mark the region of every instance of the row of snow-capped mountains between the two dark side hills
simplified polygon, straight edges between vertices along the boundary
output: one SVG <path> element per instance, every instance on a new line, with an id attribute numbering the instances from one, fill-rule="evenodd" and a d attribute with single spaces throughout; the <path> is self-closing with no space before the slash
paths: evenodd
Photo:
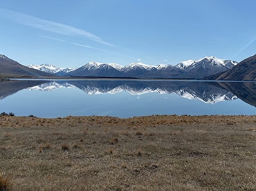
<path id="1" fill-rule="evenodd" d="M 68 77 L 132 77 L 132 78 L 196 78 L 207 77 L 211 74 L 224 72 L 236 66 L 236 61 L 222 60 L 217 57 L 204 57 L 199 60 L 183 61 L 176 66 L 159 64 L 149 66 L 141 62 L 133 62 L 127 66 L 118 63 L 89 62 L 80 68 L 57 68 L 52 65 L 35 66 L 30 68 Z"/>

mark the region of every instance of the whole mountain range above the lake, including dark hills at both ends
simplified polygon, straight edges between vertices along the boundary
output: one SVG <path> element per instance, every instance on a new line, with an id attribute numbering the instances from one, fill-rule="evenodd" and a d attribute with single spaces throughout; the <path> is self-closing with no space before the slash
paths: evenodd
<path id="1" fill-rule="evenodd" d="M 232 60 L 204 57 L 188 60 L 176 66 L 159 64 L 149 66 L 134 62 L 127 66 L 118 63 L 89 62 L 80 68 L 58 68 L 53 65 L 23 66 L 0 54 L 0 77 L 114 77 L 138 79 L 210 79 L 231 81 L 256 80 L 256 55 L 240 63 Z"/>

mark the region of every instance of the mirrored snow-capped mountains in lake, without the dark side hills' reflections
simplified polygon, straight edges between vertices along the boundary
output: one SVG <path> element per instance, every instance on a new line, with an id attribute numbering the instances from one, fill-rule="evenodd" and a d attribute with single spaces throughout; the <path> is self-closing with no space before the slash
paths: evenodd
<path id="1" fill-rule="evenodd" d="M 124 91 L 133 95 L 176 93 L 180 97 L 211 104 L 237 99 L 229 90 L 216 85 L 198 81 L 49 81 L 28 89 L 51 91 L 57 88 L 79 88 L 87 94 L 117 94 Z"/>

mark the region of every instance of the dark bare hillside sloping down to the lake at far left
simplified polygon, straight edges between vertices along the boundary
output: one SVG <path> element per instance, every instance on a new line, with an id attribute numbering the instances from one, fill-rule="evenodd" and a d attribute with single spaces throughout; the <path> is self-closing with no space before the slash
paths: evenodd
<path id="1" fill-rule="evenodd" d="M 52 74 L 28 68 L 0 54 L 0 77 L 52 77 Z"/>

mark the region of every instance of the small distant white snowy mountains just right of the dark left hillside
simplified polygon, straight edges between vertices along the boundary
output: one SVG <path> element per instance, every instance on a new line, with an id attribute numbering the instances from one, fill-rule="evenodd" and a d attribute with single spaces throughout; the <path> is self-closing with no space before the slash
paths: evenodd
<path id="1" fill-rule="evenodd" d="M 31 64 L 28 67 L 34 68 L 36 70 L 40 70 L 43 72 L 47 72 L 49 74 L 55 74 L 57 76 L 65 76 L 68 72 L 71 72 L 74 70 L 74 68 L 60 68 L 50 64 L 41 64 L 41 65 Z"/>

